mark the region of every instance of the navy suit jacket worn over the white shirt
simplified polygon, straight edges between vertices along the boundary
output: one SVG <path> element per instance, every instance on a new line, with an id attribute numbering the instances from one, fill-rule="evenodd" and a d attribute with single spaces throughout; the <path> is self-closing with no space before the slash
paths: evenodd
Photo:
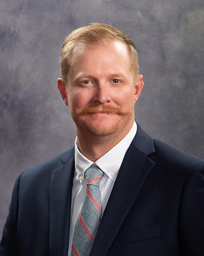
<path id="1" fill-rule="evenodd" d="M 21 173 L 1 256 L 67 256 L 74 148 Z M 204 161 L 138 125 L 91 256 L 203 256 Z"/>

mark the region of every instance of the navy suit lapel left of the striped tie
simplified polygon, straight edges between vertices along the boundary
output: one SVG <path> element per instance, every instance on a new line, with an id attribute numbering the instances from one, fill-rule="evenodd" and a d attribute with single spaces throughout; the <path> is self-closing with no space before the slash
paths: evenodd
<path id="1" fill-rule="evenodd" d="M 73 174 L 74 157 L 52 173 L 50 184 L 50 256 L 67 256 Z"/>

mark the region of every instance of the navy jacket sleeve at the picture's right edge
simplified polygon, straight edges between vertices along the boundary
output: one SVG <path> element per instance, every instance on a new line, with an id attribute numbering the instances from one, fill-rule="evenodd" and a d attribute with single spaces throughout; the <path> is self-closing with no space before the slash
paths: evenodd
<path id="1" fill-rule="evenodd" d="M 182 256 L 204 255 L 204 162 L 191 170 L 183 188 L 179 238 Z"/>

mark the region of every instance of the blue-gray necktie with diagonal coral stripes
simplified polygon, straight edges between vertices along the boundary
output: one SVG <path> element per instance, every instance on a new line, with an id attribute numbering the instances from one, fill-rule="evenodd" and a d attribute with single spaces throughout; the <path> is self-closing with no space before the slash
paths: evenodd
<path id="1" fill-rule="evenodd" d="M 85 172 L 86 194 L 74 226 L 71 256 L 88 256 L 100 223 L 101 199 L 99 183 L 104 172 L 91 165 Z"/>

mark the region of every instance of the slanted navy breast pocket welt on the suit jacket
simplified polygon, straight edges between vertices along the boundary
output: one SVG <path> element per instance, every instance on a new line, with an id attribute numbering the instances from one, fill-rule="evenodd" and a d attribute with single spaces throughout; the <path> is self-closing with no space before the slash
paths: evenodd
<path id="1" fill-rule="evenodd" d="M 154 226 L 141 227 L 141 228 L 132 229 L 132 230 L 120 231 L 113 242 L 113 246 L 133 243 L 133 242 L 152 239 L 152 238 L 159 238 L 160 234 L 161 234 L 161 225 L 154 225 Z"/>

